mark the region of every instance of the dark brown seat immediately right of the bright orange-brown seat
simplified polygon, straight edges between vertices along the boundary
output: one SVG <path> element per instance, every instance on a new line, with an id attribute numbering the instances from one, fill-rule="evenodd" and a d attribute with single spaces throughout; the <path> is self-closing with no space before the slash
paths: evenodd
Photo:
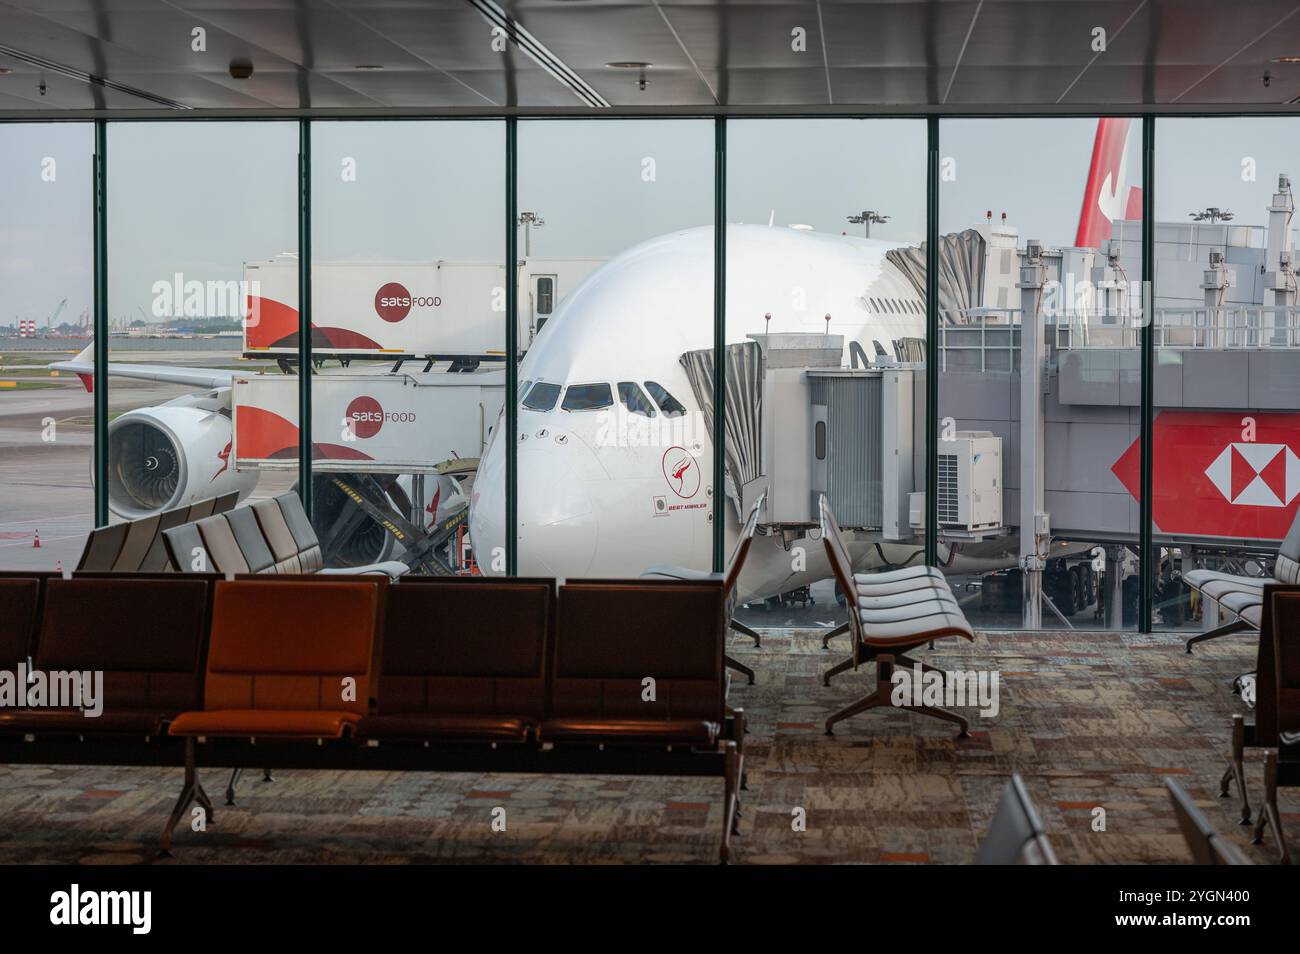
<path id="1" fill-rule="evenodd" d="M 554 580 L 426 577 L 385 595 L 367 743 L 523 743 L 545 712 Z"/>

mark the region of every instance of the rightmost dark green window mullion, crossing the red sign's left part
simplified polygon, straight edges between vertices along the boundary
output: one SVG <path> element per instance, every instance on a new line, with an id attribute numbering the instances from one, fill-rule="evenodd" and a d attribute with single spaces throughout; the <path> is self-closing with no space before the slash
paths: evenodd
<path id="1" fill-rule="evenodd" d="M 1156 552 L 1152 542 L 1152 432 L 1156 416 L 1156 117 L 1141 120 L 1141 499 L 1138 503 L 1139 607 L 1138 630 L 1152 630 L 1152 603 L 1156 589 Z"/>

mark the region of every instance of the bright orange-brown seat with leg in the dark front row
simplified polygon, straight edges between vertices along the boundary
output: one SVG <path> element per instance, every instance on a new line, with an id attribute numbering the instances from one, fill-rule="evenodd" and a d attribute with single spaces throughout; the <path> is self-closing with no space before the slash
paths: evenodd
<path id="1" fill-rule="evenodd" d="M 378 582 L 266 578 L 216 585 L 203 708 L 183 712 L 185 784 L 161 850 L 188 806 L 208 801 L 196 740 L 321 743 L 346 738 L 369 711 Z M 239 763 L 237 763 L 239 764 Z"/>

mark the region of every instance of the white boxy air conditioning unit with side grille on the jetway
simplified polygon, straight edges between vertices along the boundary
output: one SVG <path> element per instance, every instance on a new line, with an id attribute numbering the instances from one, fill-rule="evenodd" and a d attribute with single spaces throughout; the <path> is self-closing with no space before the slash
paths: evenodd
<path id="1" fill-rule="evenodd" d="M 939 529 L 984 533 L 1002 526 L 1002 438 L 959 430 L 939 442 Z"/>

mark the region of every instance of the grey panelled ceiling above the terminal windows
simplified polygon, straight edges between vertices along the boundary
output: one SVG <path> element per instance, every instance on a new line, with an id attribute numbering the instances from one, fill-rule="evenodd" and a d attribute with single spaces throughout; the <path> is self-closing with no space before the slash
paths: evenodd
<path id="1" fill-rule="evenodd" d="M 1295 0 L 495 0 L 541 44 L 536 58 L 494 48 L 476 8 L 491 3 L 0 0 L 0 47 L 18 51 L 0 49 L 12 70 L 0 110 L 160 108 L 151 97 L 222 110 L 582 109 L 572 77 L 615 108 L 668 110 L 1300 96 L 1300 65 L 1277 62 L 1300 55 Z M 191 49 L 196 26 L 205 52 Z M 252 61 L 252 78 L 229 75 L 235 57 Z M 607 66 L 618 61 L 653 64 L 645 87 Z"/>

